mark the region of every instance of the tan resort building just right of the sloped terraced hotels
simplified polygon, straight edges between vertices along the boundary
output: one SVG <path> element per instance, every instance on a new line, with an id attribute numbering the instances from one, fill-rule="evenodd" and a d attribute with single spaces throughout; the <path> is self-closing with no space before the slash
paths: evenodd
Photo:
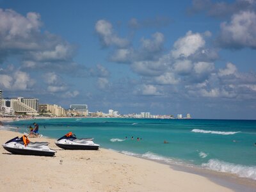
<path id="1" fill-rule="evenodd" d="M 67 111 L 56 104 L 40 104 L 39 113 L 49 116 L 67 116 Z"/>

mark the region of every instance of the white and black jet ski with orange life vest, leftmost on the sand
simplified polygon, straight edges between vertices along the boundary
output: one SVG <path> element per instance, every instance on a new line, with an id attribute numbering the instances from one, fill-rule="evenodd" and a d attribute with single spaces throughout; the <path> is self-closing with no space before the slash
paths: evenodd
<path id="1" fill-rule="evenodd" d="M 26 135 L 15 137 L 3 144 L 3 148 L 12 154 L 29 156 L 54 156 L 55 150 L 48 147 L 48 142 L 31 142 Z"/>

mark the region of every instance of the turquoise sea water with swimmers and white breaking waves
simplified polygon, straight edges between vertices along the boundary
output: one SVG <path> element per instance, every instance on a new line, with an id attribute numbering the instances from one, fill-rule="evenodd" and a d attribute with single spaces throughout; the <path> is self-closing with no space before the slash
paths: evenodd
<path id="1" fill-rule="evenodd" d="M 19 126 L 19 132 L 26 132 L 33 122 L 39 124 L 40 134 L 51 138 L 72 131 L 78 138 L 93 137 L 100 147 L 124 154 L 236 173 L 256 180 L 255 120 L 61 118 L 8 125 Z"/>

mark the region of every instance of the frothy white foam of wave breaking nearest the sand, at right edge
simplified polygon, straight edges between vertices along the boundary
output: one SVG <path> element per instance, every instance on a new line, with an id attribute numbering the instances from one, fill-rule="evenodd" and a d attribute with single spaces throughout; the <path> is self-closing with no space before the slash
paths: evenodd
<path id="1" fill-rule="evenodd" d="M 246 177 L 256 180 L 256 166 L 244 166 L 241 164 L 232 164 L 218 159 L 210 159 L 207 163 L 202 164 L 203 167 L 210 170 L 234 173 L 239 177 Z"/>

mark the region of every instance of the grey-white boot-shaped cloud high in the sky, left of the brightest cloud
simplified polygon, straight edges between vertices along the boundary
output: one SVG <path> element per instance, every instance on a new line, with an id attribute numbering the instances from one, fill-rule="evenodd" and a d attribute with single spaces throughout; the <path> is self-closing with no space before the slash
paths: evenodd
<path id="1" fill-rule="evenodd" d="M 129 45 L 127 39 L 116 35 L 112 24 L 108 20 L 98 20 L 95 24 L 95 30 L 104 46 L 116 45 L 117 47 L 126 47 Z"/>

